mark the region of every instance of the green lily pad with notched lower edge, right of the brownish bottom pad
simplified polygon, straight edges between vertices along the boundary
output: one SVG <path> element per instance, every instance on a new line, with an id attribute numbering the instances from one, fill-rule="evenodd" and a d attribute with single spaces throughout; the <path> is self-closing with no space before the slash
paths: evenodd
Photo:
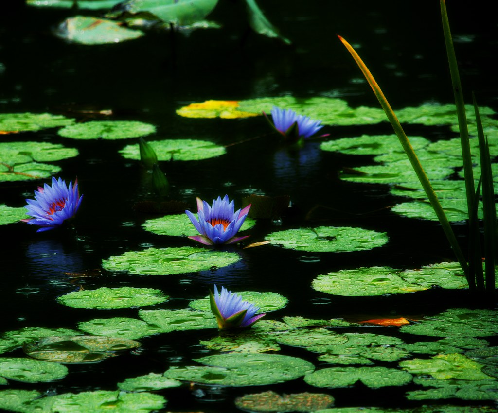
<path id="1" fill-rule="evenodd" d="M 405 371 L 386 367 L 331 367 L 317 370 L 304 377 L 304 381 L 315 387 L 349 387 L 361 381 L 371 389 L 386 386 L 404 386 L 412 376 Z"/>

